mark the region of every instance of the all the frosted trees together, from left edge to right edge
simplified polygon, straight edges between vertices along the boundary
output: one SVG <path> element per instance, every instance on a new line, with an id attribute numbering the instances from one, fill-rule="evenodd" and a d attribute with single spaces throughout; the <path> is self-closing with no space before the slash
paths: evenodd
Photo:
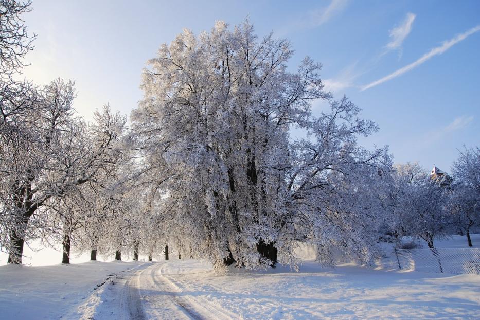
<path id="1" fill-rule="evenodd" d="M 217 268 L 295 268 L 298 242 L 315 244 L 324 264 L 339 251 L 368 263 L 382 235 L 433 246 L 448 228 L 468 235 L 478 221 L 478 149 L 460 154 L 454 183 L 394 167 L 387 147 L 358 145 L 378 126 L 324 90 L 321 65 L 305 58 L 289 72 L 290 43 L 259 40 L 248 21 L 233 30 L 218 22 L 199 37 L 185 30 L 163 45 L 126 128 L 108 106 L 90 123 L 76 116 L 71 82 L 14 80 L 31 49 L 20 20 L 30 4 L 0 3 L 0 245 L 9 262 L 41 238 L 63 243 L 64 263 L 71 247 L 95 260 L 168 257 L 173 246 Z M 329 110 L 312 114 L 314 99 Z"/>

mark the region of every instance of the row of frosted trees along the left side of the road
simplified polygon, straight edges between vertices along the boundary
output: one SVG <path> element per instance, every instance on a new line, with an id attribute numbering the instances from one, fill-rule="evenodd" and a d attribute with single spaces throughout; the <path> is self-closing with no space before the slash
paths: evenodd
<path id="1" fill-rule="evenodd" d="M 32 239 L 116 253 L 131 245 L 137 258 L 141 234 L 150 230 L 132 182 L 126 117 L 104 106 L 90 123 L 74 109 L 74 84 L 61 79 L 37 86 L 21 78 L 31 50 L 21 15 L 30 2 L 0 1 L 0 245 L 8 262 L 21 263 Z M 140 194 L 140 197 L 138 196 Z M 146 227 L 147 226 L 147 227 Z"/>

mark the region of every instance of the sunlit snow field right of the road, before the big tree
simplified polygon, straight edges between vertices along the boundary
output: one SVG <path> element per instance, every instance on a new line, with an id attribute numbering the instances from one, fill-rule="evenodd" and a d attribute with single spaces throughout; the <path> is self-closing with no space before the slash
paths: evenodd
<path id="1" fill-rule="evenodd" d="M 298 273 L 282 266 L 268 272 L 230 271 L 218 276 L 194 260 L 163 266 L 191 306 L 207 300 L 233 313 L 232 318 L 475 318 L 480 310 L 478 275 L 368 270 L 352 264 L 328 269 L 313 261 Z"/>

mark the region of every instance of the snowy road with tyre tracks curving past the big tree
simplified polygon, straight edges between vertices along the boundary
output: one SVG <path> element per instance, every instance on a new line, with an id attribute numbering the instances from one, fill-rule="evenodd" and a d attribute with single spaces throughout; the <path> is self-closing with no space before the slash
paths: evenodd
<path id="1" fill-rule="evenodd" d="M 192 263 L 193 262 L 193 263 Z M 179 265 L 182 268 L 179 268 Z M 204 270 L 198 271 L 198 265 Z M 206 266 L 206 268 L 205 268 Z M 202 274 L 211 271 L 203 262 L 164 261 L 149 263 L 115 277 L 86 303 L 82 319 L 232 319 L 237 316 L 212 304 L 191 286 L 180 284 L 172 276 L 188 276 L 189 269 Z M 190 270 L 191 271 L 191 270 Z M 179 273 L 180 272 L 180 273 Z"/>

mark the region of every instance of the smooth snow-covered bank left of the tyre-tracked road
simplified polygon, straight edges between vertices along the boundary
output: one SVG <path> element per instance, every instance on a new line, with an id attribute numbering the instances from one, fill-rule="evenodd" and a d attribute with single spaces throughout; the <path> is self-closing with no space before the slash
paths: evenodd
<path id="1" fill-rule="evenodd" d="M 141 262 L 92 261 L 70 265 L 0 266 L 0 318 L 58 319 L 107 278 Z"/>

